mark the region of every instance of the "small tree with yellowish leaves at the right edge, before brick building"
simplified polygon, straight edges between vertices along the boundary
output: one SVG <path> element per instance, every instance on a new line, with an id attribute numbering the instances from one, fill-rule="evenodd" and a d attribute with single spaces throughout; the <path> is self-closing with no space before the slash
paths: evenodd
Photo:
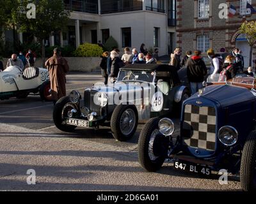
<path id="1" fill-rule="evenodd" d="M 256 43 L 256 21 L 251 22 L 244 22 L 240 29 L 241 34 L 246 35 L 246 39 L 248 40 L 248 43 L 250 45 L 250 62 L 249 65 L 252 66 L 252 51 L 253 51 L 253 45 Z"/>

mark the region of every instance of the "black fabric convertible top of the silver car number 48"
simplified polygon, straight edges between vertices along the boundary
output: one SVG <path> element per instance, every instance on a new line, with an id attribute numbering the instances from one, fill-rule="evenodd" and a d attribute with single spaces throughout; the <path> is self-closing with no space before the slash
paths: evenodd
<path id="1" fill-rule="evenodd" d="M 171 80 L 172 85 L 179 85 L 180 78 L 177 73 L 177 69 L 174 66 L 168 64 L 131 64 L 127 65 L 120 70 L 132 70 L 132 71 L 156 71 L 156 72 L 166 72 L 166 76 Z"/>

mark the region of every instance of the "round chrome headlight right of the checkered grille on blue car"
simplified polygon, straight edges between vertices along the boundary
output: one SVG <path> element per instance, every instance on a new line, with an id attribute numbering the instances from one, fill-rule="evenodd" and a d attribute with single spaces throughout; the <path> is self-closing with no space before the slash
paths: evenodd
<path id="1" fill-rule="evenodd" d="M 218 138 L 223 145 L 232 146 L 237 143 L 238 133 L 232 126 L 224 126 L 219 130 Z"/>

